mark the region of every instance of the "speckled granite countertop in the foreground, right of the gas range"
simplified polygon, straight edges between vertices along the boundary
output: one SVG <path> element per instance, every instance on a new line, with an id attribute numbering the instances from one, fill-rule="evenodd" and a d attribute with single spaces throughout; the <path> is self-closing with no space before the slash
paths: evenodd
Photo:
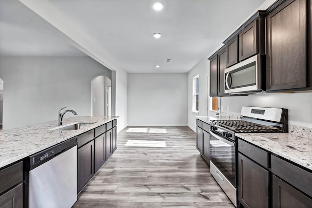
<path id="1" fill-rule="evenodd" d="M 267 151 L 312 170 L 312 139 L 291 133 L 235 133 Z"/>

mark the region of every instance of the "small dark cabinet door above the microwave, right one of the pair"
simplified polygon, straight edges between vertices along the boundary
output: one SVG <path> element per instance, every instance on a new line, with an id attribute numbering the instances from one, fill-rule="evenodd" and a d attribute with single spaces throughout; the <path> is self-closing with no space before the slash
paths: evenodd
<path id="1" fill-rule="evenodd" d="M 257 53 L 257 20 L 254 20 L 238 34 L 238 60 L 244 60 Z"/>

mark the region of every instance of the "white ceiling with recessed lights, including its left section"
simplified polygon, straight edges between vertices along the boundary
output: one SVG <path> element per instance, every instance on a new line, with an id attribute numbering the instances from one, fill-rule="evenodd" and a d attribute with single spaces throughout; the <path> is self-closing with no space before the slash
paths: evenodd
<path id="1" fill-rule="evenodd" d="M 112 70 L 187 73 L 265 0 L 161 0 L 161 11 L 156 0 L 35 1 L 0 0 L 0 56 L 88 54 Z"/>

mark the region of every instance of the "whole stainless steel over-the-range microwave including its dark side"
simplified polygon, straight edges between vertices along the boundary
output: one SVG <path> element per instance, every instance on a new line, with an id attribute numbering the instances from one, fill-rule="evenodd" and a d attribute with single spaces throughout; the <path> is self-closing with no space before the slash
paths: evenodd
<path id="1" fill-rule="evenodd" d="M 265 91 L 265 55 L 247 58 L 224 71 L 224 92 L 230 95 Z"/>

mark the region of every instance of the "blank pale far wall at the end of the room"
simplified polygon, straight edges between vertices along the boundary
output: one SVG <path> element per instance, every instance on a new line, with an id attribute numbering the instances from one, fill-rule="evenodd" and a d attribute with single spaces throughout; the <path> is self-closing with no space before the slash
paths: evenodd
<path id="1" fill-rule="evenodd" d="M 186 125 L 187 85 L 185 73 L 128 74 L 129 126 Z"/>

